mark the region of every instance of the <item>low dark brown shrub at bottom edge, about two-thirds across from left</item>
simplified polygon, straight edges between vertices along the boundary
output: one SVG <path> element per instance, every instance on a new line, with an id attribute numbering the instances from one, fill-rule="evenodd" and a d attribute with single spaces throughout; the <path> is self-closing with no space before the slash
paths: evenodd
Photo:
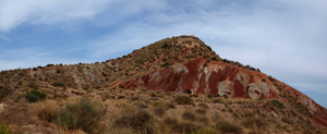
<path id="1" fill-rule="evenodd" d="M 222 133 L 234 133 L 234 134 L 241 134 L 242 133 L 242 127 L 231 124 L 227 121 L 218 121 L 216 123 L 216 127 L 221 131 Z"/>

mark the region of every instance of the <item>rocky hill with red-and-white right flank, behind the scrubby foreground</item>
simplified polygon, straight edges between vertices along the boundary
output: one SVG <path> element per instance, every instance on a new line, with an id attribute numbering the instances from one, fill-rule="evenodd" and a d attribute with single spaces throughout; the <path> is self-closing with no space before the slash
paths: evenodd
<path id="1" fill-rule="evenodd" d="M 108 90 L 135 89 L 244 101 L 278 100 L 282 103 L 282 108 L 278 109 L 292 110 L 294 114 L 300 114 L 295 117 L 307 119 L 313 125 L 327 126 L 327 110 L 314 100 L 258 69 L 220 58 L 194 36 L 166 38 L 105 62 L 48 64 L 0 73 L 2 102 L 17 105 L 12 100 L 24 101 L 21 98 L 32 88 L 45 92 L 51 95 L 48 98 L 56 100 L 88 94 L 99 97 Z M 256 107 L 269 109 L 266 105 Z M 280 110 L 274 113 L 279 119 L 283 114 Z M 4 117 L 0 114 L 1 118 Z M 298 121 L 298 118 L 292 120 Z"/>

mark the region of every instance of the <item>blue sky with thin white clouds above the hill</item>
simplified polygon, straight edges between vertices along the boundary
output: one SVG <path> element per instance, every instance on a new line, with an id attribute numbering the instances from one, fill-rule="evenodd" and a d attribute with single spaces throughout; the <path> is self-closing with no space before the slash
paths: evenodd
<path id="1" fill-rule="evenodd" d="M 327 108 L 326 0 L 0 0 L 0 70 L 116 59 L 195 35 Z"/>

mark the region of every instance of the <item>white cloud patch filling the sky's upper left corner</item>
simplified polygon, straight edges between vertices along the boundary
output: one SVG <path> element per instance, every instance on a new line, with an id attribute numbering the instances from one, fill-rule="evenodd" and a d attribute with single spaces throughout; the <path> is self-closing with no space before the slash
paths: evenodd
<path id="1" fill-rule="evenodd" d="M 47 24 L 92 19 L 111 0 L 1 0 L 0 31 L 9 32 L 24 23 Z"/>

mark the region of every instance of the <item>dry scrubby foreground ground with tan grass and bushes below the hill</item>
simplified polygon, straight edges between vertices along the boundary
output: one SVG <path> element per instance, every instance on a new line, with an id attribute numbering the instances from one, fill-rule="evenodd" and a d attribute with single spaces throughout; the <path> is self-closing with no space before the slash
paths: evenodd
<path id="1" fill-rule="evenodd" d="M 145 89 L 89 89 L 71 97 L 28 90 L 14 102 L 28 107 L 44 133 L 219 134 L 325 133 L 279 100 L 194 96 Z M 28 94 L 40 97 L 31 101 Z M 33 97 L 32 97 L 33 98 Z M 13 111 L 8 111 L 13 112 Z M 26 111 L 25 111 L 26 112 Z M 8 113 L 10 114 L 10 113 Z M 26 114 L 26 113 L 25 113 Z M 36 118 L 33 118 L 36 117 Z M 27 120 L 27 119 L 20 119 Z M 26 121 L 27 122 L 27 121 Z M 32 131 L 14 124 L 4 131 Z M 29 121 L 29 123 L 32 123 Z M 40 125 L 40 124 L 47 125 Z M 33 124 L 33 123 L 32 123 Z M 31 125 L 31 124 L 29 124 Z M 25 130 L 24 130 L 25 129 Z M 37 129 L 35 129 L 37 130 Z M 36 133 L 32 131 L 31 133 Z"/>

